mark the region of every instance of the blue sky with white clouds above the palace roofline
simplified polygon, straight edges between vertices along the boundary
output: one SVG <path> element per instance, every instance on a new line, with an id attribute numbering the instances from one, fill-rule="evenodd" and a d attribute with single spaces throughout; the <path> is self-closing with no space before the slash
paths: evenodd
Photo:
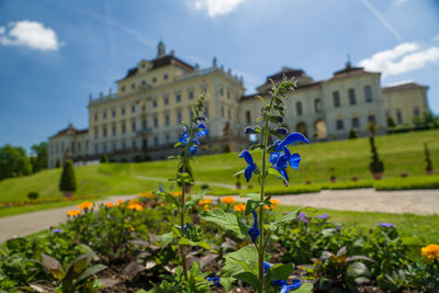
<path id="1" fill-rule="evenodd" d="M 167 50 L 244 77 L 247 92 L 282 66 L 315 80 L 352 64 L 382 84 L 429 86 L 439 112 L 437 0 L 0 0 L 0 146 L 30 148 L 88 127 L 88 99 Z"/>

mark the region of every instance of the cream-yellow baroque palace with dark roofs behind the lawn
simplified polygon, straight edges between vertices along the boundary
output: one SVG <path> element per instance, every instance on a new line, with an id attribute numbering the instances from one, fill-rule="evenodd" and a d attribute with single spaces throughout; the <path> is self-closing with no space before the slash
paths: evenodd
<path id="1" fill-rule="evenodd" d="M 113 161 L 160 159 L 173 154 L 173 144 L 182 133 L 181 122 L 189 120 L 191 104 L 206 93 L 210 134 L 202 153 L 239 150 L 250 142 L 243 129 L 255 123 L 263 106 L 256 95 L 264 97 L 270 80 L 295 78 L 297 90 L 286 99 L 285 126 L 305 134 L 311 140 L 347 138 L 354 129 L 368 133 L 370 122 L 385 133 L 387 116 L 397 125 L 410 124 L 414 116 L 428 112 L 427 89 L 414 82 L 381 88 L 381 74 L 352 67 L 348 61 L 329 79 L 315 81 L 303 70 L 282 68 L 244 95 L 243 78 L 218 67 L 200 69 L 166 53 L 160 42 L 153 60 L 140 60 L 117 80 L 117 91 L 90 97 L 89 128 L 72 125 L 49 137 L 48 167 L 66 157 L 90 161 L 106 154 Z"/>

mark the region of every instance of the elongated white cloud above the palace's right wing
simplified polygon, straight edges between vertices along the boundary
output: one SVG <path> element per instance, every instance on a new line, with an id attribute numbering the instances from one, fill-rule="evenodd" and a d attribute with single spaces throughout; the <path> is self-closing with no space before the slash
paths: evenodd
<path id="1" fill-rule="evenodd" d="M 361 60 L 359 66 L 381 71 L 385 77 L 419 69 L 429 63 L 439 63 L 439 47 L 419 49 L 416 43 L 403 43 L 393 49 L 375 53 L 371 58 Z"/>

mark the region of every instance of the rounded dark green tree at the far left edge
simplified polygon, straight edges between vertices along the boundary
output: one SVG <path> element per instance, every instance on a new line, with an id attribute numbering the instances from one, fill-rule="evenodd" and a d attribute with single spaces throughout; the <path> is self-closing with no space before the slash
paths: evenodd
<path id="1" fill-rule="evenodd" d="M 32 173 L 32 165 L 22 147 L 0 147 L 0 180 Z"/>

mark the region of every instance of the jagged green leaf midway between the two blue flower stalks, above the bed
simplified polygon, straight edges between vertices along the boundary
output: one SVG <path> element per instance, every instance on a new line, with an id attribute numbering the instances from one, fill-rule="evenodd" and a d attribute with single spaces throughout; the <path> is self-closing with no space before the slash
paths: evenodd
<path id="1" fill-rule="evenodd" d="M 203 211 L 200 214 L 200 218 L 232 232 L 239 239 L 244 239 L 247 236 L 247 230 L 250 228 L 248 225 L 239 222 L 235 214 L 224 212 L 223 210 Z"/>

